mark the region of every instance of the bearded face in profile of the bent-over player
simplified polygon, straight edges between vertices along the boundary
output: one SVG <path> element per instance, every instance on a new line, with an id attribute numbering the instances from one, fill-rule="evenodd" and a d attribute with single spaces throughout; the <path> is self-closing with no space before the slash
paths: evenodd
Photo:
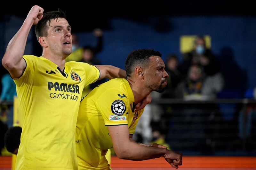
<path id="1" fill-rule="evenodd" d="M 144 71 L 145 85 L 156 92 L 164 92 L 168 74 L 164 70 L 164 62 L 159 56 L 151 56 L 150 62 Z"/>

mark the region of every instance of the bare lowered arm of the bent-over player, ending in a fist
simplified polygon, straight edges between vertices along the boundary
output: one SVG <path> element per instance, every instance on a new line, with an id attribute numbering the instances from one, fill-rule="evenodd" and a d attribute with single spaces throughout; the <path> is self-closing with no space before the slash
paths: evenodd
<path id="1" fill-rule="evenodd" d="M 164 148 L 144 146 L 130 140 L 127 125 L 108 126 L 108 131 L 116 155 L 120 159 L 147 160 L 164 157 L 171 160 L 171 162 L 168 162 L 172 163 L 172 167 L 178 168 L 178 165 L 182 164 L 181 154 Z"/>

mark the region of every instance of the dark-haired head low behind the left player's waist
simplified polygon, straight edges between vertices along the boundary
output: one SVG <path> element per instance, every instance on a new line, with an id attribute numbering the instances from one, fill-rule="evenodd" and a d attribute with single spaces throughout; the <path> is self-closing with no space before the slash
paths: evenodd
<path id="1" fill-rule="evenodd" d="M 7 151 L 17 155 L 20 146 L 20 135 L 22 129 L 19 126 L 14 126 L 8 129 L 4 135 L 4 144 Z"/>

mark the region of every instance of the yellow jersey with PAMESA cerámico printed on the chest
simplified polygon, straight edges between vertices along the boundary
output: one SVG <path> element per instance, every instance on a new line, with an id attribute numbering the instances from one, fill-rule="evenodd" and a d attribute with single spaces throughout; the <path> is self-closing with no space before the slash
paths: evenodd
<path id="1" fill-rule="evenodd" d="M 63 72 L 44 57 L 24 55 L 26 69 L 15 79 L 22 133 L 16 169 L 77 169 L 75 127 L 84 86 L 100 71 L 67 62 Z"/>

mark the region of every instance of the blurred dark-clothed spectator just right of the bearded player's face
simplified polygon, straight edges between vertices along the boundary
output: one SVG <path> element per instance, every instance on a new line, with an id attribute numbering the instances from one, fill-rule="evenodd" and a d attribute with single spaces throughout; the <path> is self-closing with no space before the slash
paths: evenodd
<path id="1" fill-rule="evenodd" d="M 167 86 L 162 93 L 162 98 L 177 98 L 176 87 L 182 80 L 182 75 L 178 70 L 179 61 L 175 54 L 168 55 L 165 71 L 168 73 Z"/>

